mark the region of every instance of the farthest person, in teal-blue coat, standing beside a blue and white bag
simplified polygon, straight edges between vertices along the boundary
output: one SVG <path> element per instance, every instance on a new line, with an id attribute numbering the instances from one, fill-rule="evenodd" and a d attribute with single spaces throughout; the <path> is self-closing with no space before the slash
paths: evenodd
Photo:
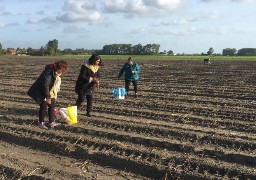
<path id="1" fill-rule="evenodd" d="M 125 73 L 125 90 L 127 95 L 129 93 L 130 83 L 132 82 L 134 87 L 135 98 L 138 98 L 138 86 L 137 81 L 140 75 L 140 67 L 138 63 L 134 62 L 131 57 L 128 58 L 127 62 L 123 65 L 118 73 L 118 78 L 121 78 L 122 74 Z"/>

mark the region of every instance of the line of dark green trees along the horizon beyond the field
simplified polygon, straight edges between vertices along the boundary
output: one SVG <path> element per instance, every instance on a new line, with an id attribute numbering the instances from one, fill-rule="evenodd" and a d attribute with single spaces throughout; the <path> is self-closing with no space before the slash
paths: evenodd
<path id="1" fill-rule="evenodd" d="M 132 45 L 132 44 L 109 44 L 104 45 L 102 49 L 84 49 L 77 48 L 75 50 L 66 48 L 64 50 L 58 49 L 58 40 L 50 40 L 45 46 L 41 46 L 40 49 L 33 49 L 31 47 L 25 48 L 7 48 L 3 49 L 2 44 L 0 43 L 0 55 L 3 54 L 12 54 L 13 51 L 15 54 L 27 54 L 31 56 L 56 56 L 56 55 L 83 55 L 83 54 L 93 54 L 98 53 L 102 55 L 174 55 L 172 50 L 164 52 L 159 52 L 159 44 L 146 44 L 145 46 L 141 44 Z M 185 55 L 185 54 L 177 54 Z M 196 54 L 195 54 L 196 55 Z M 214 54 L 214 49 L 211 47 L 207 53 L 201 53 L 201 55 L 212 56 L 212 55 L 223 55 L 223 56 L 256 56 L 256 48 L 242 48 L 238 51 L 235 48 L 225 48 L 222 51 L 222 54 Z"/>

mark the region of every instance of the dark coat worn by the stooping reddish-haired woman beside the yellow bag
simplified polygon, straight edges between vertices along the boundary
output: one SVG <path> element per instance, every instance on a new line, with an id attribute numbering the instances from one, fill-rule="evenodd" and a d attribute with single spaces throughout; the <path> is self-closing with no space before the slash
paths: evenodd
<path id="1" fill-rule="evenodd" d="M 50 90 L 55 80 L 56 74 L 53 69 L 53 64 L 46 65 L 44 71 L 29 88 L 27 94 L 40 104 L 45 98 L 51 98 Z"/>

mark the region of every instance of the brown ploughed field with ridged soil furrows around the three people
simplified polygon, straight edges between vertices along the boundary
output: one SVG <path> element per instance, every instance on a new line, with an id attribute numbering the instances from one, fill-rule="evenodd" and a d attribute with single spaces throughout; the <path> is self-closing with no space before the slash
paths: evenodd
<path id="1" fill-rule="evenodd" d="M 42 130 L 26 92 L 56 60 L 0 58 L 0 179 L 256 178 L 256 62 L 139 60 L 139 98 L 117 100 L 124 60 L 103 59 L 93 117 Z M 76 100 L 66 60 L 57 107 Z"/>

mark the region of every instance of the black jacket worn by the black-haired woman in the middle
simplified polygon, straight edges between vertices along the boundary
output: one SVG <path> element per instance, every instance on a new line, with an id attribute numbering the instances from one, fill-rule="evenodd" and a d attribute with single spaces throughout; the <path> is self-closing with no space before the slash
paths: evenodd
<path id="1" fill-rule="evenodd" d="M 93 90 L 95 82 L 90 82 L 90 78 L 94 77 L 100 78 L 99 71 L 94 73 L 88 66 L 82 65 L 80 74 L 76 81 L 75 92 L 83 93 Z"/>

